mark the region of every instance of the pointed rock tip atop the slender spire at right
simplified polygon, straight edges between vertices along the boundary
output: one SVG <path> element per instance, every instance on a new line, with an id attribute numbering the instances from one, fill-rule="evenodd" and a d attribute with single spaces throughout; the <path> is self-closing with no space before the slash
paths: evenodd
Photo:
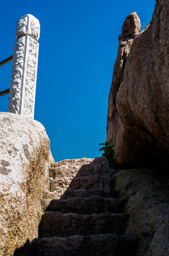
<path id="1" fill-rule="evenodd" d="M 122 26 L 122 35 L 132 36 L 134 33 L 139 33 L 141 31 L 141 22 L 136 11 L 129 16 L 127 16 L 124 24 Z"/>

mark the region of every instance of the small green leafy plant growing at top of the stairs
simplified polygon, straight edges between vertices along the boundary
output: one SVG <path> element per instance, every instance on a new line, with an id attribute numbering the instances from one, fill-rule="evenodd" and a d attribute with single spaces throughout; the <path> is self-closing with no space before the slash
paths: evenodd
<path id="1" fill-rule="evenodd" d="M 99 145 L 103 145 L 99 151 L 105 151 L 103 153 L 103 156 L 107 157 L 108 161 L 112 165 L 115 162 L 115 149 L 114 144 L 112 142 L 105 142 L 105 143 L 100 143 Z"/>

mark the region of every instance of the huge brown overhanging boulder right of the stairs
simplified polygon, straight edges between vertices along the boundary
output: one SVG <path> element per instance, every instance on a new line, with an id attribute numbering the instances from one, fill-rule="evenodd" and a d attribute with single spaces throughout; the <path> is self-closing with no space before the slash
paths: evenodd
<path id="1" fill-rule="evenodd" d="M 129 33 L 124 40 L 120 36 L 120 46 L 124 41 L 123 52 L 127 54 L 122 68 L 119 65 L 122 75 L 116 72 L 118 65 L 115 65 L 107 115 L 107 141 L 114 142 L 116 159 L 121 164 L 168 163 L 168 23 L 169 2 L 156 0 L 153 19 L 145 30 L 136 36 Z M 117 62 L 121 55 L 119 52 Z M 120 81 L 118 86 L 116 80 Z"/>

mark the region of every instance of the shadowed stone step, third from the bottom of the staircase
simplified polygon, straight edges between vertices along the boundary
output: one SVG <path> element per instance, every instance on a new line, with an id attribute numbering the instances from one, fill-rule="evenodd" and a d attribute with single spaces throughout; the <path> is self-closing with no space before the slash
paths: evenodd
<path id="1" fill-rule="evenodd" d="M 53 199 L 48 203 L 47 211 L 60 213 L 122 213 L 124 200 L 115 198 L 70 198 L 67 200 Z"/>

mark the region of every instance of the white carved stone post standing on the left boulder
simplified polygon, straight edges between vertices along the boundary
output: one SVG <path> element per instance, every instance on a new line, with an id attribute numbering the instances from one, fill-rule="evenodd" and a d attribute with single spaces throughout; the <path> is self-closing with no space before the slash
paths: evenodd
<path id="1" fill-rule="evenodd" d="M 8 112 L 34 118 L 40 23 L 27 14 L 18 20 Z"/>

